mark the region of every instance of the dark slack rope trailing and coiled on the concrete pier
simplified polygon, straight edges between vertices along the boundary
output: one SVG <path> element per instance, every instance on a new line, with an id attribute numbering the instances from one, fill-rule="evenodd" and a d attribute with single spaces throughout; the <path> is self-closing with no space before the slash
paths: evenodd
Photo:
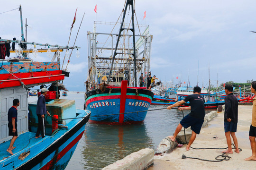
<path id="1" fill-rule="evenodd" d="M 183 118 L 184 118 L 184 113 L 183 113 L 183 110 L 182 110 L 182 114 L 183 114 Z M 184 128 L 184 127 L 183 127 Z M 185 128 L 184 128 L 184 136 L 185 136 L 185 141 L 186 141 L 186 144 L 188 144 L 188 142 L 187 142 L 187 139 L 186 139 L 186 132 L 185 132 Z M 232 147 L 232 149 L 236 149 L 236 146 L 235 146 L 235 144 L 231 144 L 231 145 L 233 145 L 234 147 Z M 226 148 L 194 148 L 194 147 L 191 147 L 190 146 L 190 148 L 192 148 L 192 149 L 227 149 L 227 148 L 229 148 L 229 147 L 226 147 Z M 241 152 L 242 151 L 242 149 L 241 148 L 238 148 L 238 150 L 239 150 L 239 152 Z M 226 154 L 226 155 L 224 155 L 224 154 Z M 219 157 L 222 157 L 222 158 L 219 158 Z M 211 161 L 211 162 L 219 162 L 219 161 L 229 161 L 229 159 L 231 158 L 230 156 L 228 156 L 227 155 L 227 153 L 222 153 L 221 155 L 218 155 L 218 156 L 216 156 L 215 157 L 215 159 L 216 159 L 216 161 L 215 160 L 206 160 L 206 159 L 200 159 L 200 158 L 196 158 L 196 157 L 187 157 L 186 155 L 182 155 L 182 159 L 186 159 L 186 158 L 190 158 L 190 159 L 198 159 L 198 160 L 200 160 L 200 161 Z"/>

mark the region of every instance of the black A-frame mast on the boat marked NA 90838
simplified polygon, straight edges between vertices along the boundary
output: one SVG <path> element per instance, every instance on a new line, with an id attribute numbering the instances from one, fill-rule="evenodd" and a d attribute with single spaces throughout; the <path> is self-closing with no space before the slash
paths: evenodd
<path id="1" fill-rule="evenodd" d="M 128 5 L 131 5 L 131 9 L 132 9 L 132 28 L 123 28 L 124 19 L 125 19 L 125 15 L 126 15 L 126 11 L 127 11 Z M 119 44 L 119 39 L 120 39 L 122 31 L 124 31 L 124 30 L 131 30 L 132 31 L 132 35 L 133 35 L 133 53 L 117 52 L 118 44 Z M 117 54 L 133 55 L 133 57 L 134 57 L 134 73 L 133 73 L 133 75 L 134 75 L 135 86 L 137 87 L 137 70 L 136 70 L 136 50 L 135 50 L 135 27 L 134 27 L 133 0 L 127 0 L 126 5 L 125 5 L 124 14 L 123 14 L 121 26 L 120 26 L 120 29 L 119 29 L 118 39 L 117 39 L 115 51 L 114 51 L 113 58 L 112 58 L 112 63 L 111 63 L 111 67 L 110 67 L 110 73 L 109 73 L 107 84 L 109 84 L 109 82 L 110 82 L 110 76 L 111 76 L 111 73 L 112 73 L 112 68 L 113 68 L 114 60 L 115 60 L 115 57 L 116 57 Z"/>

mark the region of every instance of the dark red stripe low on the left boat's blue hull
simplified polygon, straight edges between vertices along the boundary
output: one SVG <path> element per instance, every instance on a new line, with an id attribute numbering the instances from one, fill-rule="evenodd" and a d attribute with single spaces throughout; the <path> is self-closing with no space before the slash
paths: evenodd
<path id="1" fill-rule="evenodd" d="M 81 139 L 83 132 L 84 131 L 76 136 L 76 138 L 71 143 L 69 143 L 60 153 L 58 153 L 57 158 L 53 158 L 51 161 L 47 162 L 46 165 L 43 166 L 40 170 L 48 170 L 50 167 L 54 167 L 55 163 L 59 161 L 64 156 L 64 154 L 66 154 Z"/>

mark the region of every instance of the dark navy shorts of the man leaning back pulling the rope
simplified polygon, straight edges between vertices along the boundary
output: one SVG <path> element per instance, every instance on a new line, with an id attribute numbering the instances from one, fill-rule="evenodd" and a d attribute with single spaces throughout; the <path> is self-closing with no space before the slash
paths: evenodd
<path id="1" fill-rule="evenodd" d="M 204 122 L 203 119 L 198 119 L 190 115 L 187 115 L 181 120 L 180 123 L 185 128 L 191 127 L 192 131 L 194 131 L 196 134 L 199 134 L 201 131 L 203 122 Z"/>

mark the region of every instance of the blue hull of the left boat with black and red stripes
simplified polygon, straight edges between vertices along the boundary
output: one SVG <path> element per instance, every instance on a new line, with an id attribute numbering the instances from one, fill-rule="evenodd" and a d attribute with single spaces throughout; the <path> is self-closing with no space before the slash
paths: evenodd
<path id="1" fill-rule="evenodd" d="M 3 170 L 64 170 L 82 137 L 86 122 L 89 120 L 90 113 L 85 113 L 84 111 L 84 114 L 79 115 L 81 119 L 73 119 L 67 125 L 68 129 L 60 129 L 56 131 L 55 135 L 38 140 L 36 144 L 1 161 L 0 166 Z M 35 134 L 32 137 L 35 138 Z M 20 153 L 28 151 L 27 157 L 21 161 L 18 158 Z"/>

